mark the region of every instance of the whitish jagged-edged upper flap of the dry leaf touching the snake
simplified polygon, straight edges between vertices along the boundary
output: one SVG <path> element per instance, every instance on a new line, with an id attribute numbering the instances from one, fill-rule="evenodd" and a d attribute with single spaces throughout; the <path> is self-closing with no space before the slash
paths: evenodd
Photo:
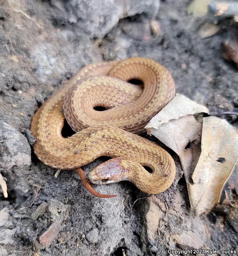
<path id="1" fill-rule="evenodd" d="M 158 129 L 161 124 L 168 123 L 172 119 L 196 113 L 209 113 L 209 110 L 189 100 L 182 94 L 177 94 L 150 122 L 145 126 L 147 133 L 151 135 L 150 128 Z M 158 138 L 159 139 L 159 138 Z M 176 138 L 175 138 L 176 139 Z"/>

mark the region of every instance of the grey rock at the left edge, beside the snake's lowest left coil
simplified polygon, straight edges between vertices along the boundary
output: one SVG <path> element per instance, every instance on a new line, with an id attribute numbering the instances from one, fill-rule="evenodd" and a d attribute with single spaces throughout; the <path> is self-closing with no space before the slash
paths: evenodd
<path id="1" fill-rule="evenodd" d="M 19 170 L 29 169 L 31 164 L 31 148 L 27 138 L 12 126 L 0 122 L 0 170 L 10 170 L 13 166 Z"/>

